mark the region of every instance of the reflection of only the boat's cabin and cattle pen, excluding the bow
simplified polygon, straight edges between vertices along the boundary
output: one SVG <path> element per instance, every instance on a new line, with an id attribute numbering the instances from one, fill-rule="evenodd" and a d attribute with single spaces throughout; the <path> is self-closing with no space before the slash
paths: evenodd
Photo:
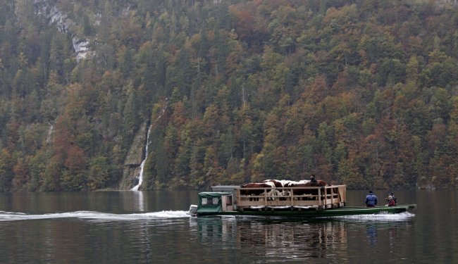
<path id="1" fill-rule="evenodd" d="M 345 222 L 288 221 L 237 218 L 190 220 L 190 230 L 204 245 L 235 243 L 237 249 L 252 249 L 254 255 L 275 258 L 325 257 L 328 249 L 346 250 Z"/>

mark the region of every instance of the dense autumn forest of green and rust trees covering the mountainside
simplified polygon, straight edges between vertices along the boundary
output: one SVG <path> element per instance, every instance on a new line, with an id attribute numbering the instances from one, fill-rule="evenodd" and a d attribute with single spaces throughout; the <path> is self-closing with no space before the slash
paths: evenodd
<path id="1" fill-rule="evenodd" d="M 0 191 L 118 189 L 145 123 L 142 189 L 458 187 L 457 87 L 453 1 L 4 0 Z"/>

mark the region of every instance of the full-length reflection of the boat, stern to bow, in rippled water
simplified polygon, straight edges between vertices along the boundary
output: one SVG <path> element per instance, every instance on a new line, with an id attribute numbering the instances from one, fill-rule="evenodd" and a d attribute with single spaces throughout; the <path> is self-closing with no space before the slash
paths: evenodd
<path id="1" fill-rule="evenodd" d="M 374 215 L 373 218 L 378 219 Z M 191 218 L 190 232 L 197 235 L 202 247 L 236 248 L 251 254 L 248 259 L 258 256 L 275 262 L 327 258 L 342 262 L 358 256 L 359 251 L 395 251 L 398 228 L 409 228 L 411 220 L 402 216 L 404 220 L 392 222 L 380 219 L 363 223 L 354 218 Z M 361 240 L 364 237 L 366 241 Z"/>

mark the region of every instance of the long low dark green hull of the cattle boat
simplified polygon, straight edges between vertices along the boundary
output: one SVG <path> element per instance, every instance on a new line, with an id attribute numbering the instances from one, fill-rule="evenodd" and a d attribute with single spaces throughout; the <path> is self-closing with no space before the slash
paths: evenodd
<path id="1" fill-rule="evenodd" d="M 328 218 L 345 215 L 372 215 L 378 213 L 403 213 L 416 205 L 376 206 L 376 207 L 342 207 L 317 210 L 316 208 L 257 208 L 250 210 L 233 210 L 225 212 L 198 212 L 197 217 L 215 215 L 264 216 L 287 218 Z"/>

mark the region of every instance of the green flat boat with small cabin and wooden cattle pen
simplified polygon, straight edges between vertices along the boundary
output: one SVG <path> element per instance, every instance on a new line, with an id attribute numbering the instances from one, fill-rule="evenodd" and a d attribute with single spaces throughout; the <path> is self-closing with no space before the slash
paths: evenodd
<path id="1" fill-rule="evenodd" d="M 300 188 L 300 189 L 299 189 Z M 415 204 L 397 206 L 345 206 L 346 186 L 255 188 L 256 194 L 237 186 L 212 187 L 199 193 L 197 205 L 190 206 L 192 217 L 239 215 L 288 218 L 321 218 L 344 215 L 402 213 Z"/>

